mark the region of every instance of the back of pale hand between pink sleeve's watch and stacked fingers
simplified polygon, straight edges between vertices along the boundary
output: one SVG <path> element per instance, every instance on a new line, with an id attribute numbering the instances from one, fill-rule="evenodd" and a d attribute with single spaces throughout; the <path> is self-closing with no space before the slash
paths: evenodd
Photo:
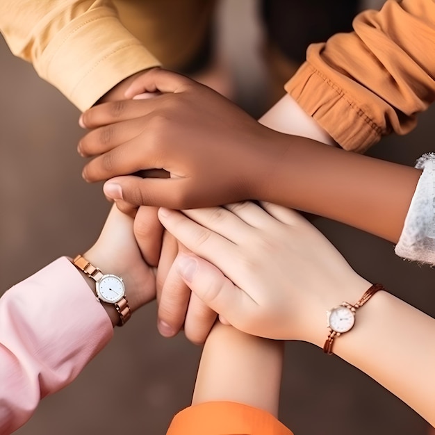
<path id="1" fill-rule="evenodd" d="M 83 256 L 102 272 L 122 277 L 131 311 L 156 297 L 156 269 L 142 258 L 133 234 L 133 219 L 115 205 L 97 242 Z"/>

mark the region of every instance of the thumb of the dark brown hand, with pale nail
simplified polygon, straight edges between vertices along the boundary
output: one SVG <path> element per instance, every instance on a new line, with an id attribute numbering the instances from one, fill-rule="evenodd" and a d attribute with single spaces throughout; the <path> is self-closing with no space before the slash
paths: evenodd
<path id="1" fill-rule="evenodd" d="M 136 206 L 181 208 L 184 205 L 181 191 L 187 184 L 186 179 L 143 179 L 129 175 L 106 181 L 103 190 L 109 199 L 123 199 Z"/>

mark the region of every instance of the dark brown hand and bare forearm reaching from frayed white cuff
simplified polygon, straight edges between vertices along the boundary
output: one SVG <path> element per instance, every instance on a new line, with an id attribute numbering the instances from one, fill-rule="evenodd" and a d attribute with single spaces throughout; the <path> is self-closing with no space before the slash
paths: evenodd
<path id="1" fill-rule="evenodd" d="M 397 242 L 420 170 L 290 136 L 256 122 L 213 90 L 153 69 L 126 91 L 154 99 L 101 104 L 83 114 L 83 170 L 112 199 L 196 208 L 258 199 Z M 164 169 L 170 178 L 132 177 Z M 297 188 L 294 188 L 297 186 Z"/>

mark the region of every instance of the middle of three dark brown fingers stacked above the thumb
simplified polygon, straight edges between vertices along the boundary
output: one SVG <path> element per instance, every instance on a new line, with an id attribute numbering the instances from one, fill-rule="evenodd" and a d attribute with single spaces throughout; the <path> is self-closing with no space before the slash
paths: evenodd
<path id="1" fill-rule="evenodd" d="M 82 157 L 103 154 L 139 136 L 144 125 L 144 120 L 140 117 L 98 127 L 81 138 L 77 151 Z"/>

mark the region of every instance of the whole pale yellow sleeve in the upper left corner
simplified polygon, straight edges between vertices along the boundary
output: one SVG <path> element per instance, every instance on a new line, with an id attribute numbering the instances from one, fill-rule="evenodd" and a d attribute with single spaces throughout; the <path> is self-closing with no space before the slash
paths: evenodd
<path id="1" fill-rule="evenodd" d="M 0 32 L 82 111 L 131 74 L 160 65 L 110 0 L 1 0 Z"/>

